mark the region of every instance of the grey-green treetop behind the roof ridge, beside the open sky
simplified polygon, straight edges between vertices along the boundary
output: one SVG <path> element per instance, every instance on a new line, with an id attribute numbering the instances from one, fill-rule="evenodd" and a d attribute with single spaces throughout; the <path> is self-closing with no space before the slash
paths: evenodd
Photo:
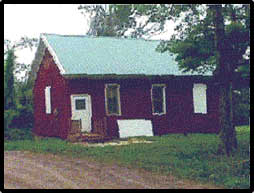
<path id="1" fill-rule="evenodd" d="M 78 10 L 85 16 L 89 15 L 90 26 L 87 35 L 139 38 L 144 33 L 153 35 L 159 28 L 158 23 L 148 27 L 147 25 L 151 24 L 150 20 L 144 23 L 137 22 L 137 18 L 142 15 L 138 14 L 132 4 L 80 5 Z M 132 32 L 127 35 L 128 30 Z"/>

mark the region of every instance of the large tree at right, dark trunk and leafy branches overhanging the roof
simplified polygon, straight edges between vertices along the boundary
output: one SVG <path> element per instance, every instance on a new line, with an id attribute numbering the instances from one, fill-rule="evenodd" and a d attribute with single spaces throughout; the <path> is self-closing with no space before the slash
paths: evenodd
<path id="1" fill-rule="evenodd" d="M 117 6 L 111 5 L 116 10 Z M 214 80 L 220 85 L 220 136 L 228 156 L 237 147 L 232 111 L 233 80 L 237 77 L 235 71 L 245 72 L 249 76 L 249 59 L 243 57 L 250 45 L 249 9 L 249 5 L 230 4 L 132 4 L 129 12 L 132 17 L 146 16 L 146 25 L 159 24 L 158 28 L 153 28 L 154 31 L 163 31 L 167 20 L 181 21 L 176 25 L 176 33 L 170 41 L 162 41 L 157 50 L 176 54 L 179 67 L 186 72 L 214 72 Z M 137 24 L 132 23 L 129 25 Z M 126 26 L 122 25 L 123 28 Z M 133 34 L 138 33 L 138 37 L 151 31 L 145 25 L 134 29 Z"/>

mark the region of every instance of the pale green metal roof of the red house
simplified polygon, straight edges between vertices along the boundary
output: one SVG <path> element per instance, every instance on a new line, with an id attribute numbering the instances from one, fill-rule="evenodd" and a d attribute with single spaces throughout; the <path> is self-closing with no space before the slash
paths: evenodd
<path id="1" fill-rule="evenodd" d="M 159 41 L 43 35 L 55 52 L 66 75 L 192 75 L 182 73 L 173 56 L 155 51 Z"/>

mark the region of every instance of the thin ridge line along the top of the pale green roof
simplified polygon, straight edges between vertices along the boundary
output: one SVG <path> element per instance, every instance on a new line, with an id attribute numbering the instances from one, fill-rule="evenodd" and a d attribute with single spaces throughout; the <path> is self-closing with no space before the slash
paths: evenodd
<path id="1" fill-rule="evenodd" d="M 41 33 L 41 35 L 54 35 L 54 36 L 61 36 L 61 37 L 87 37 L 87 38 L 110 38 L 110 39 L 121 39 L 121 40 L 143 40 L 143 41 L 152 41 L 152 42 L 159 42 L 163 40 L 151 40 L 151 39 L 145 39 L 145 38 L 132 38 L 128 36 L 93 36 L 93 35 L 71 35 L 71 34 L 55 34 L 55 33 Z"/>

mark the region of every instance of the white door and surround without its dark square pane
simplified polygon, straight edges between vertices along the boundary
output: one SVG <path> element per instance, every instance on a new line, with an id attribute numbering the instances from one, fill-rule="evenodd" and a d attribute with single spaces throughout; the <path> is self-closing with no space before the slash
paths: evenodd
<path id="1" fill-rule="evenodd" d="M 89 94 L 72 94 L 71 98 L 71 120 L 80 120 L 82 124 L 82 132 L 91 132 L 91 118 L 92 118 L 92 101 Z M 86 99 L 86 110 L 75 109 L 75 99 Z"/>

